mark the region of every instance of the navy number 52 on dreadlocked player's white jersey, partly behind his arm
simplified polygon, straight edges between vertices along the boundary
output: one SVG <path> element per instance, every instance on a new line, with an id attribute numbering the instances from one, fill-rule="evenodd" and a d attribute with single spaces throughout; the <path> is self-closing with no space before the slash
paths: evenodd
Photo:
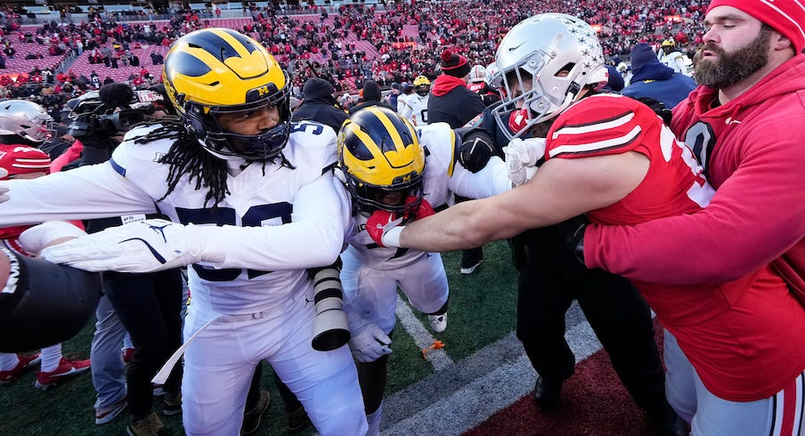
<path id="1" fill-rule="evenodd" d="M 243 218 L 240 219 L 240 225 L 243 227 L 260 227 L 265 220 L 271 220 L 273 218 L 280 218 L 283 224 L 288 224 L 293 209 L 294 206 L 285 201 L 271 205 L 251 206 L 248 208 L 248 211 L 246 211 L 246 214 L 243 214 Z M 179 221 L 183 224 L 237 225 L 235 221 L 235 210 L 232 209 L 232 207 L 214 207 L 210 209 L 184 209 L 177 207 L 176 214 L 179 216 Z M 236 268 L 214 270 L 195 263 L 192 265 L 192 268 L 199 274 L 200 279 L 209 281 L 231 281 L 237 279 L 243 271 L 242 269 Z M 254 279 L 257 276 L 262 276 L 269 272 L 272 271 L 246 270 L 248 279 Z"/>

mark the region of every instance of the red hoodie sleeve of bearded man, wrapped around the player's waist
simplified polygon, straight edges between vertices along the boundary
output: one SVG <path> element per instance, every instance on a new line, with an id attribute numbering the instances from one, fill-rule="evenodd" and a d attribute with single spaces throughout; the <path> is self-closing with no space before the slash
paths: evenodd
<path id="1" fill-rule="evenodd" d="M 772 133 L 803 122 L 781 120 L 741 139 L 742 156 L 733 157 L 740 165 L 701 212 L 633 227 L 590 225 L 588 267 L 671 285 L 720 283 L 784 254 L 805 235 L 805 149 Z"/>

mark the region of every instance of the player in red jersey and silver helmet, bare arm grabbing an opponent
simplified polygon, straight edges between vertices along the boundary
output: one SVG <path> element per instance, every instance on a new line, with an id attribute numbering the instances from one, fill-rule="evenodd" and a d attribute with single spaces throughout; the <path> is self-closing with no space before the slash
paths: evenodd
<path id="1" fill-rule="evenodd" d="M 751 21 L 736 8 L 711 11 L 720 32 L 732 25 L 715 23 Z M 753 26 L 760 34 L 760 22 Z M 787 38 L 776 41 L 791 52 Z M 633 225 L 701 211 L 713 190 L 691 149 L 642 103 L 596 94 L 598 82 L 583 78 L 597 77 L 602 59 L 595 32 L 574 17 L 541 14 L 516 25 L 496 62 L 505 101 L 525 109 L 525 128 L 547 130 L 543 150 L 520 155 L 524 165 L 545 159 L 537 174 L 403 229 L 374 232 L 391 218 L 376 213 L 367 229 L 385 246 L 453 250 L 583 213 L 598 224 Z M 685 401 L 674 407 L 690 413 L 693 434 L 801 434 L 805 336 L 792 332 L 805 331 L 805 307 L 775 270 L 764 265 L 725 283 L 635 284 L 666 329 L 668 394 Z"/>

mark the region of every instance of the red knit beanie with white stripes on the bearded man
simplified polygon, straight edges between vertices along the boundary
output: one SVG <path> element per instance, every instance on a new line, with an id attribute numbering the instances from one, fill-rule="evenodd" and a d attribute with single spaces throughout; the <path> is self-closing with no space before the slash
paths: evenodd
<path id="1" fill-rule="evenodd" d="M 794 51 L 805 47 L 805 0 L 712 0 L 707 10 L 732 6 L 768 24 L 791 40 Z"/>

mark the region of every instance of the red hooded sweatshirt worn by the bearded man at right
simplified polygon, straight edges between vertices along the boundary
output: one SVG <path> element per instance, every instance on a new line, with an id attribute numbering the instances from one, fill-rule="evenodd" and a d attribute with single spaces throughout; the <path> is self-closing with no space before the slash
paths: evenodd
<path id="1" fill-rule="evenodd" d="M 805 147 L 792 132 L 805 125 L 805 55 L 733 101 L 719 106 L 717 96 L 699 86 L 674 109 L 671 124 L 717 190 L 710 205 L 632 227 L 590 225 L 585 260 L 629 279 L 680 285 L 735 280 L 771 262 L 791 292 L 756 310 L 774 311 L 776 327 L 793 325 L 805 318 Z M 792 371 L 805 368 L 793 361 L 805 347 L 802 331 L 753 331 L 735 340 L 780 358 L 764 371 L 793 379 Z M 780 347 L 791 356 L 781 357 Z"/>

